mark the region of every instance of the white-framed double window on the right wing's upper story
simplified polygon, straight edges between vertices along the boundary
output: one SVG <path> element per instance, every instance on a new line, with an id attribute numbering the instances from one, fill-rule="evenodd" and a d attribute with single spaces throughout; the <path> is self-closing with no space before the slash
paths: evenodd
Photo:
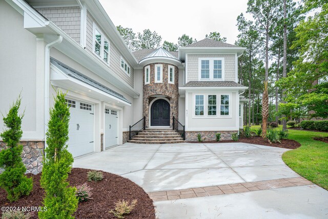
<path id="1" fill-rule="evenodd" d="M 224 58 L 198 58 L 199 80 L 223 80 Z"/>

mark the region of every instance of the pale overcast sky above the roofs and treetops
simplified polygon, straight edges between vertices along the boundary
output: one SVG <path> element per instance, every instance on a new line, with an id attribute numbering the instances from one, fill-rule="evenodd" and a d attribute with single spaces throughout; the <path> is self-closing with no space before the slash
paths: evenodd
<path id="1" fill-rule="evenodd" d="M 219 32 L 227 42 L 237 40 L 237 16 L 247 10 L 248 0 L 99 0 L 115 26 L 156 31 L 164 40 L 177 43 L 187 34 L 198 41 Z M 246 16 L 250 18 L 249 16 Z"/>

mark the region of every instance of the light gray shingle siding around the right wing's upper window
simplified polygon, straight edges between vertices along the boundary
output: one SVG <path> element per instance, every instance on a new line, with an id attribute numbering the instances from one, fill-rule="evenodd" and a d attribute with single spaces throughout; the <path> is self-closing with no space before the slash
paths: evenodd
<path id="1" fill-rule="evenodd" d="M 235 81 L 236 80 L 236 56 L 235 54 L 211 54 L 211 55 L 187 55 L 187 71 L 188 81 L 198 81 L 198 58 L 212 58 L 223 57 L 224 58 L 224 80 Z"/>

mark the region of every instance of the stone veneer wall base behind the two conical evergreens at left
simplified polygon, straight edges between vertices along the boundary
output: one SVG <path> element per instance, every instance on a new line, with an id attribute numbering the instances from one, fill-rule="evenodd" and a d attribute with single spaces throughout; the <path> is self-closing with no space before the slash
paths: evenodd
<path id="1" fill-rule="evenodd" d="M 37 174 L 42 171 L 42 160 L 45 151 L 44 141 L 24 140 L 20 144 L 23 145 L 22 160 L 26 165 L 26 173 Z M 6 147 L 3 141 L 0 141 L 0 150 Z M 1 171 L 0 171 L 1 172 Z"/>

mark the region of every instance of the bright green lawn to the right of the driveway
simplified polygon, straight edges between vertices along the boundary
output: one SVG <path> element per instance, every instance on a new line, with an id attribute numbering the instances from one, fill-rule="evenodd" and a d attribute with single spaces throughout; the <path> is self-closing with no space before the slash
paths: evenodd
<path id="1" fill-rule="evenodd" d="M 281 125 L 278 128 L 281 129 Z M 328 144 L 315 141 L 314 137 L 328 137 L 328 133 L 289 129 L 288 138 L 298 141 L 301 146 L 286 151 L 282 160 L 302 177 L 328 190 Z"/>

